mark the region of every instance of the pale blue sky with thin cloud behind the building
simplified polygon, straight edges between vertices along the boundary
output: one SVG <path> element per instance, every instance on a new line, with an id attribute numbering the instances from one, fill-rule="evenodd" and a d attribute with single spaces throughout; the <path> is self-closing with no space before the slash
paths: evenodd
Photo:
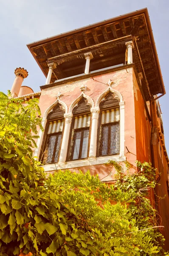
<path id="1" fill-rule="evenodd" d="M 34 92 L 45 84 L 45 76 L 26 44 L 147 7 L 166 88 L 160 104 L 169 154 L 168 0 L 0 0 L 0 6 L 0 90 L 5 93 L 11 89 L 16 67 L 27 69 L 29 76 L 23 85 Z"/>

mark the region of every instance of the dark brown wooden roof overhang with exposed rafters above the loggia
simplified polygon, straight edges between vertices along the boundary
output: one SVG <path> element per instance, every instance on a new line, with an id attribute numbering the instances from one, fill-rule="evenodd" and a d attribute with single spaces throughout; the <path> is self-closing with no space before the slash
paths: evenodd
<path id="1" fill-rule="evenodd" d="M 147 9 L 131 12 L 64 34 L 46 38 L 28 48 L 44 75 L 54 62 L 51 83 L 84 73 L 85 52 L 92 52 L 90 71 L 125 64 L 126 41 L 134 41 L 133 62 L 144 75 L 144 95 L 165 94 L 160 64 Z"/>

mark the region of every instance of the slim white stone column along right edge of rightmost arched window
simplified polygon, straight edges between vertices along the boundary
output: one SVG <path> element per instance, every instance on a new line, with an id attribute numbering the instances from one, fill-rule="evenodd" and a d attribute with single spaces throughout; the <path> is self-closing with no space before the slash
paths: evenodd
<path id="1" fill-rule="evenodd" d="M 119 102 L 120 105 L 120 157 L 124 156 L 124 102 Z"/>

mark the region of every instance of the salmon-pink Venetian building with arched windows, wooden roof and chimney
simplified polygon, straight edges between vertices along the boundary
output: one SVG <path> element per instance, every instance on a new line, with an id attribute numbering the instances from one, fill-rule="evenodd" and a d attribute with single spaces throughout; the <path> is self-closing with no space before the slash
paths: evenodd
<path id="1" fill-rule="evenodd" d="M 13 97 L 39 98 L 44 132 L 34 154 L 46 172 L 70 169 L 113 179 L 109 159 L 157 168 L 161 186 L 152 201 L 169 249 L 169 158 L 158 98 L 165 88 L 147 9 L 28 44 L 46 77 L 40 92 L 22 85 L 15 70 Z M 157 96 L 160 95 L 160 96 Z M 161 174 L 161 175 L 160 175 Z M 166 198 L 158 201 L 157 197 Z"/>

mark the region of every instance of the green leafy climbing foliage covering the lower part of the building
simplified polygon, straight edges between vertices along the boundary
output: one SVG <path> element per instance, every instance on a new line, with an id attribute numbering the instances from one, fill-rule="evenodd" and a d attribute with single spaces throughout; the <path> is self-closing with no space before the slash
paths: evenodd
<path id="1" fill-rule="evenodd" d="M 124 176 L 116 165 L 111 186 L 89 172 L 46 180 L 31 148 L 39 113 L 36 99 L 23 104 L 0 93 L 0 255 L 165 255 L 152 228 L 151 166 L 138 163 L 138 174 Z"/>

